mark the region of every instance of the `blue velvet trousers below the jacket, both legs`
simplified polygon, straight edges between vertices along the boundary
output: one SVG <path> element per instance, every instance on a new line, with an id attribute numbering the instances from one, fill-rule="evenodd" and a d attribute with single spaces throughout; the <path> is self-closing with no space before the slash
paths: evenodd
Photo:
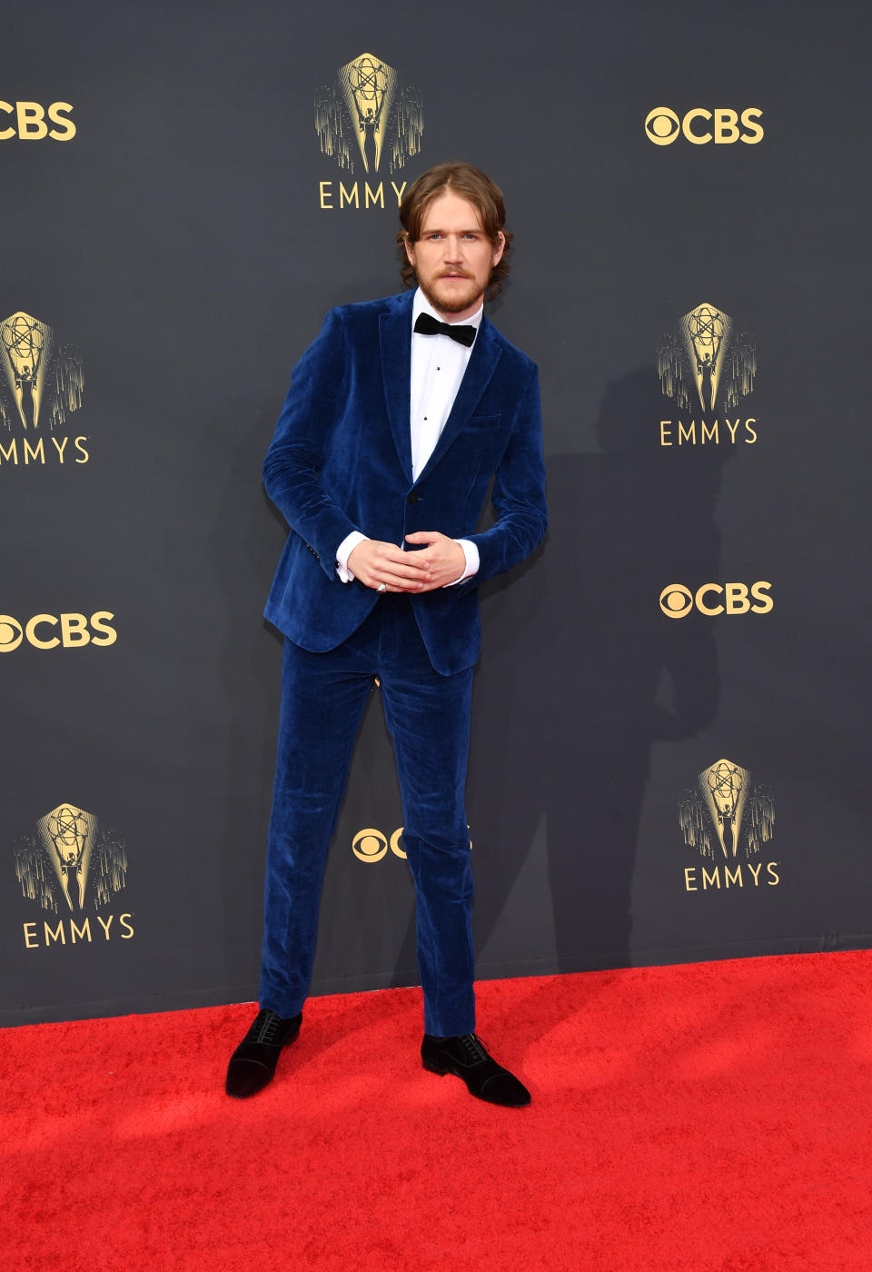
<path id="1" fill-rule="evenodd" d="M 408 597 L 390 593 L 338 649 L 310 654 L 285 642 L 261 1006 L 296 1015 L 309 990 L 327 850 L 376 675 L 414 881 L 425 1030 L 472 1033 L 473 880 L 464 786 L 473 669 L 435 672 Z"/>

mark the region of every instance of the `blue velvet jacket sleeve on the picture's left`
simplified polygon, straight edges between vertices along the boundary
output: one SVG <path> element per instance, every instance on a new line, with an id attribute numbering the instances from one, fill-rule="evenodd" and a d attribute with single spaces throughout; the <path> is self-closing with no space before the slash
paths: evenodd
<path id="1" fill-rule="evenodd" d="M 337 579 L 336 550 L 360 527 L 325 494 L 318 474 L 341 417 L 347 380 L 346 332 L 332 309 L 291 375 L 291 387 L 263 462 L 263 485 L 292 530 Z"/>

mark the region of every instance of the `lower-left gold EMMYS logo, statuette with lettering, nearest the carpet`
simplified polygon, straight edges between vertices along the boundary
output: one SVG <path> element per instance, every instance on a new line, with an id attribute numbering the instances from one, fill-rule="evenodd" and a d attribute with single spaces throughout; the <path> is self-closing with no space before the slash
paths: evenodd
<path id="1" fill-rule="evenodd" d="M 33 833 L 15 845 L 15 875 L 24 898 L 56 920 L 43 920 L 42 932 L 37 922 L 24 923 L 25 949 L 133 935 L 132 915 L 119 915 L 116 922 L 103 912 L 127 883 L 127 848 L 93 813 L 66 803 L 41 817 Z"/>

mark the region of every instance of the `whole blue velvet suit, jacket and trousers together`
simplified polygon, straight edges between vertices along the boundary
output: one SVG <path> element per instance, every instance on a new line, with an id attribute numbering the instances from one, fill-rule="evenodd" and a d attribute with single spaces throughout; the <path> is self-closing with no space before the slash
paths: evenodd
<path id="1" fill-rule="evenodd" d="M 269 827 L 261 1005 L 305 999 L 329 837 L 374 677 L 381 683 L 416 884 L 425 1028 L 474 1028 L 472 874 L 463 806 L 480 583 L 545 529 L 535 365 L 482 319 L 454 407 L 412 478 L 412 293 L 330 310 L 294 369 L 264 468 L 290 527 L 266 616 L 287 637 Z M 441 338 L 441 337 L 430 337 Z M 477 533 L 488 486 L 496 524 Z M 352 530 L 472 539 L 479 570 L 421 595 L 343 584 Z"/>

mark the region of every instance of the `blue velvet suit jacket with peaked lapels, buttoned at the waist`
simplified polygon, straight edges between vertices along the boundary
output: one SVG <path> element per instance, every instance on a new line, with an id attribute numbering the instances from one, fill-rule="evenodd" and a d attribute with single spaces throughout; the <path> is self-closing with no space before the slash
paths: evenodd
<path id="1" fill-rule="evenodd" d="M 430 660 L 451 675 L 478 659 L 478 585 L 522 561 L 545 532 L 539 382 L 535 364 L 483 318 L 442 435 L 413 481 L 412 299 L 332 309 L 294 369 L 263 466 L 291 529 L 266 617 L 303 649 L 336 649 L 379 598 L 338 577 L 336 550 L 347 534 L 397 544 L 414 530 L 472 539 L 474 577 L 412 597 Z M 492 477 L 497 520 L 478 534 Z"/>

